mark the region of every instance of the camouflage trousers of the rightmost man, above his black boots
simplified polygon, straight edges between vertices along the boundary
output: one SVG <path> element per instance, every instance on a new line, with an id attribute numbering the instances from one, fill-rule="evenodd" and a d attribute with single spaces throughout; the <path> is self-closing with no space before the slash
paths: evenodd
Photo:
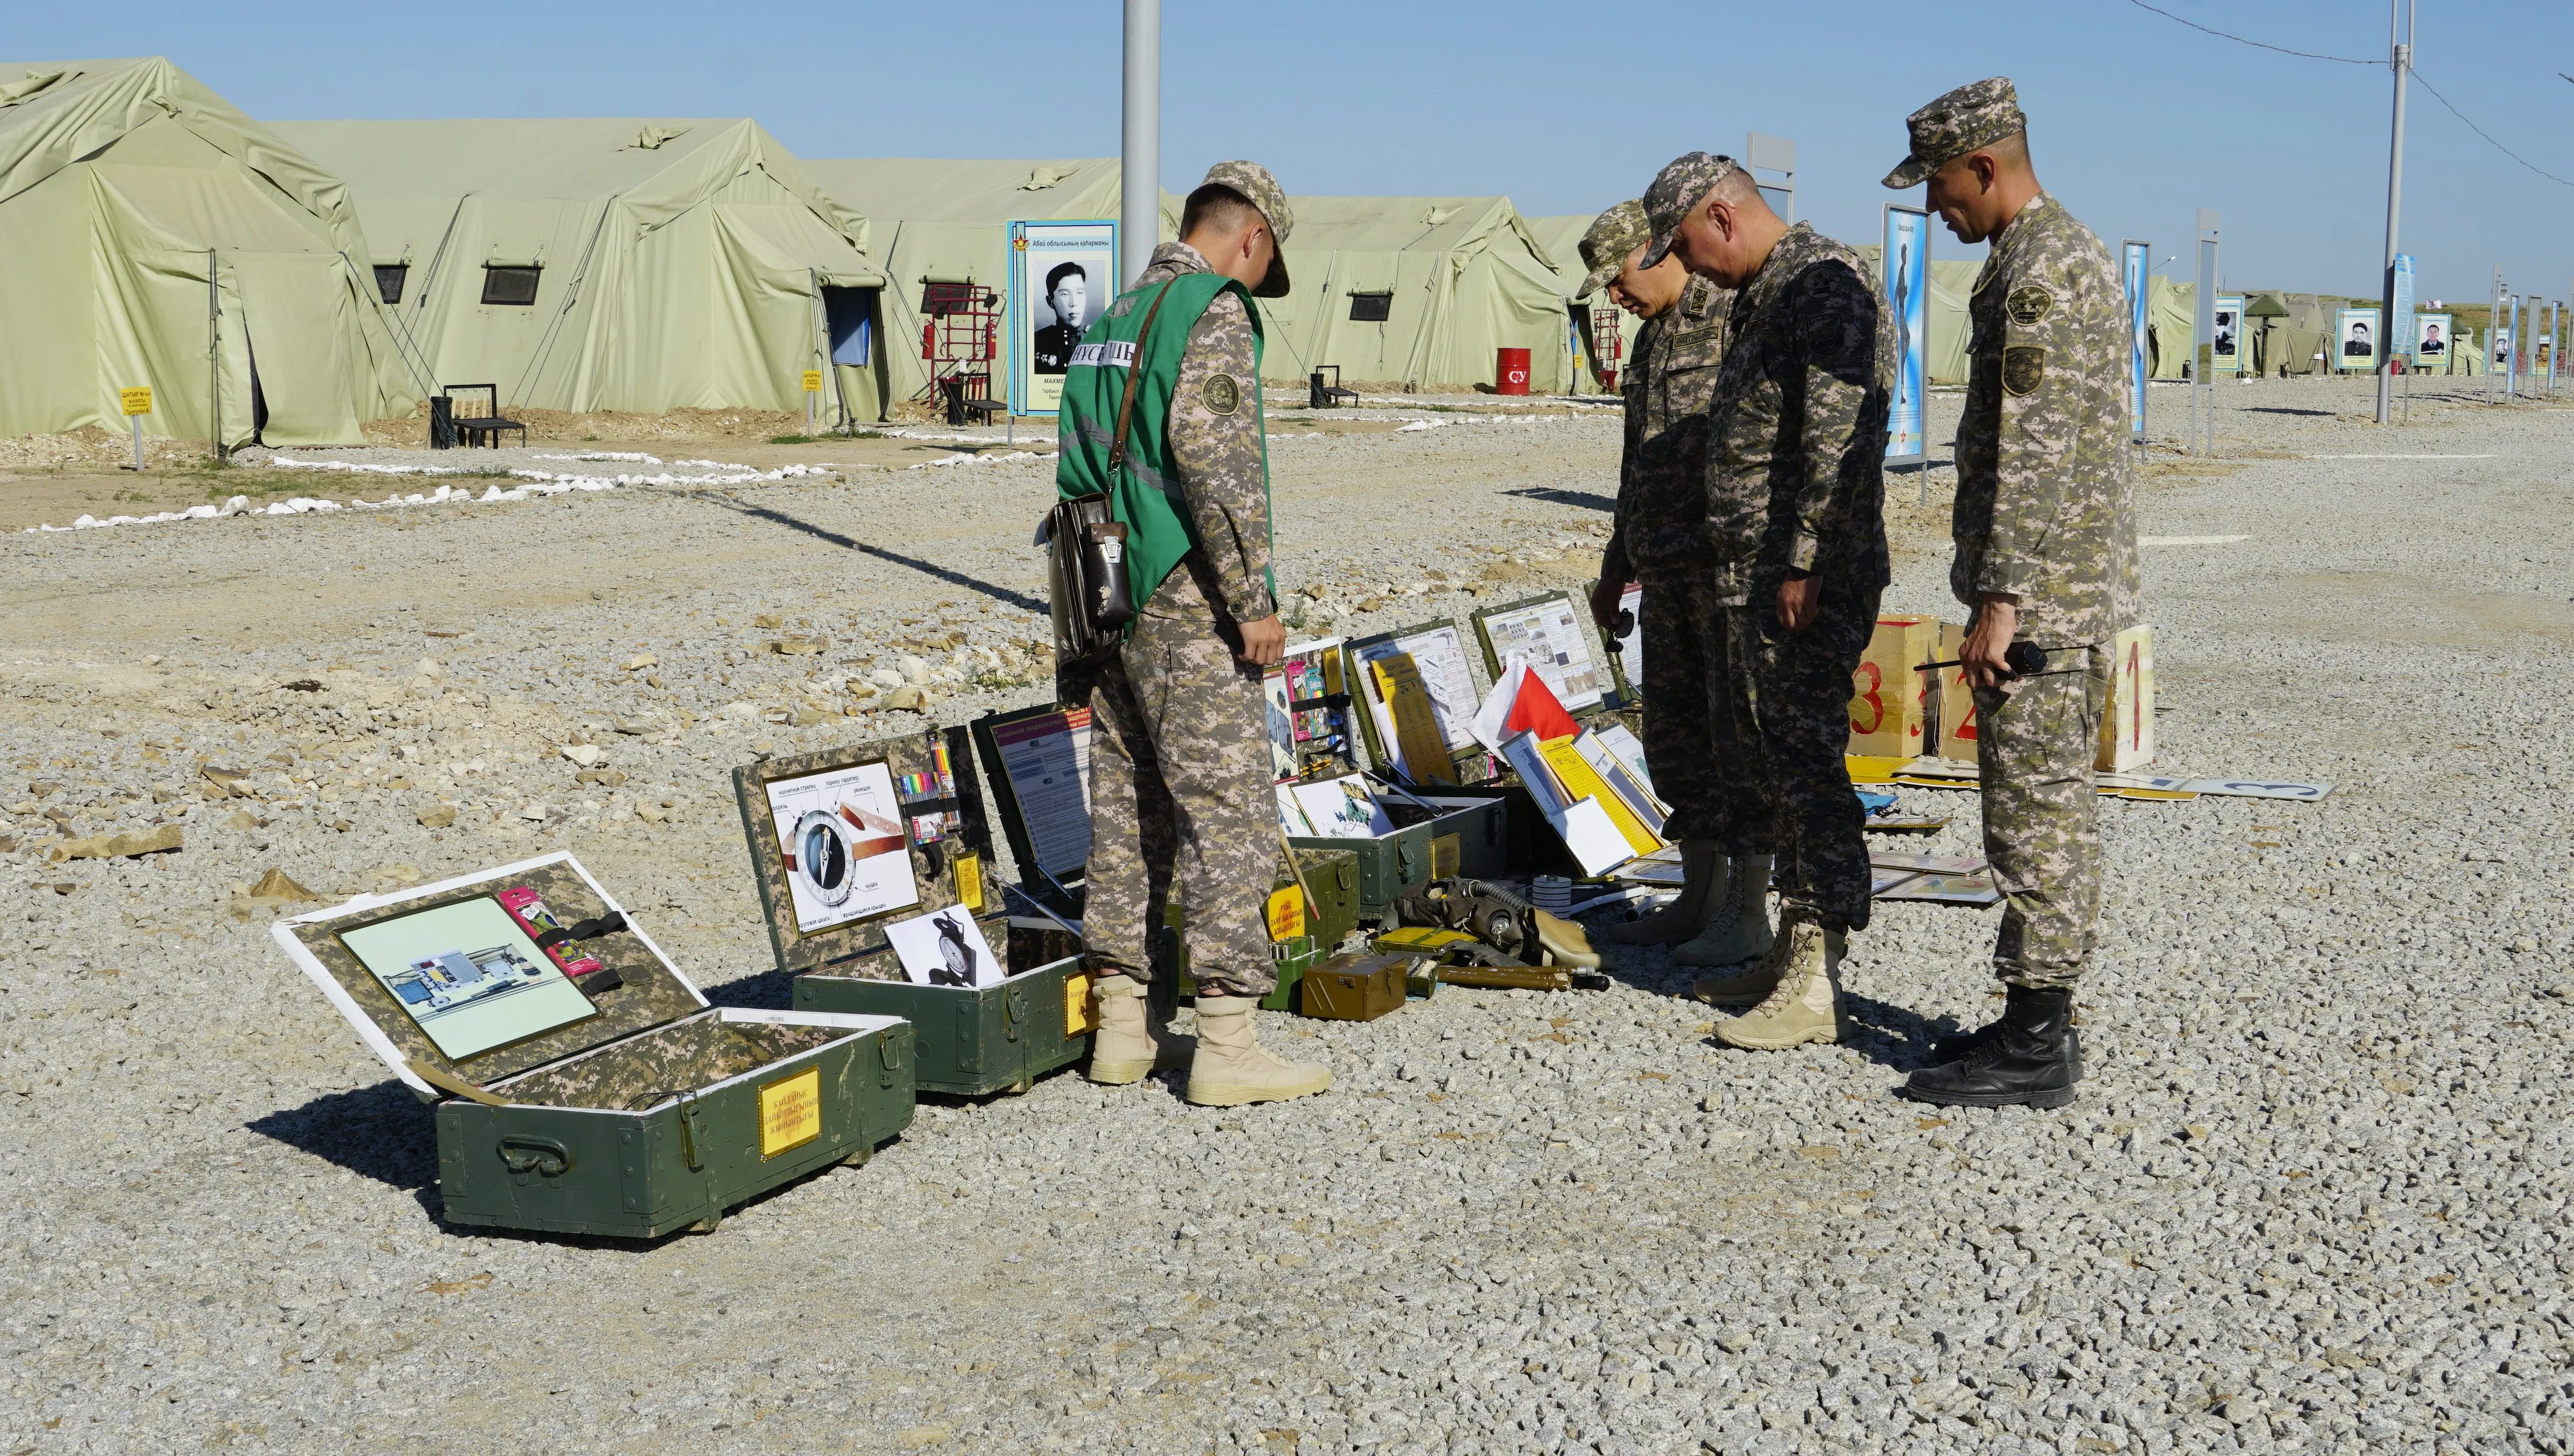
<path id="1" fill-rule="evenodd" d="M 2057 653 L 2064 659 L 2072 653 Z M 2100 810 L 2093 756 L 2108 669 L 1974 689 L 1985 767 L 1985 859 L 2003 890 L 1992 972 L 2010 985 L 2072 985 L 2100 921 Z"/>

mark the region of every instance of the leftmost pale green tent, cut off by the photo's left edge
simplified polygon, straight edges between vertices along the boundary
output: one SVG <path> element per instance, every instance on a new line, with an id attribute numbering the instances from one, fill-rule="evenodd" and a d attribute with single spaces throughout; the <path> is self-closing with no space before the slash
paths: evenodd
<path id="1" fill-rule="evenodd" d="M 0 64 L 0 435 L 358 442 L 420 399 L 340 180 L 167 59 Z"/>

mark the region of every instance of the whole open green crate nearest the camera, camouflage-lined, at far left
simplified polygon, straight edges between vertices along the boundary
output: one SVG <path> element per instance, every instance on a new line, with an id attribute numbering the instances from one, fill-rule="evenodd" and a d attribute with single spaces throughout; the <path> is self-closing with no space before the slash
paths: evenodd
<path id="1" fill-rule="evenodd" d="M 587 1016 L 471 1052 L 468 1042 L 440 1042 L 448 1024 L 435 1011 L 430 1021 L 407 1011 L 412 1001 L 394 985 L 412 980 L 386 980 L 350 949 L 347 936 L 358 934 L 386 962 L 381 947 L 412 934 L 404 924 L 432 939 L 448 934 L 414 916 L 461 908 L 507 916 L 499 895 L 515 890 L 535 893 L 556 926 L 607 926 L 623 916 L 577 859 L 548 854 L 396 895 L 360 895 L 273 929 L 368 1050 L 438 1104 L 438 1191 L 448 1222 L 610 1237 L 705 1232 L 734 1204 L 780 1183 L 831 1163 L 865 1163 L 878 1142 L 911 1124 L 909 1024 L 710 1008 L 633 921 L 561 942 L 559 957 L 533 939 L 494 947 L 528 949 L 525 960 L 499 960 L 505 970 L 494 975 L 502 980 L 515 965 L 525 967 L 517 972 L 525 983 L 494 996 L 559 996 L 556 967 L 535 957 L 553 957 L 561 970 L 595 960 L 600 970 L 571 978 Z M 597 988 L 605 980 L 618 985 Z"/>

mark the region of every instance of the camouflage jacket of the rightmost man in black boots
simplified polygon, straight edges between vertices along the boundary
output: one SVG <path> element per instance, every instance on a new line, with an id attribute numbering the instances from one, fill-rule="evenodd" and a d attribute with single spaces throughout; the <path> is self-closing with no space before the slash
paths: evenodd
<path id="1" fill-rule="evenodd" d="M 1949 587 L 1969 607 L 2015 594 L 2023 641 L 2106 643 L 2136 623 L 2126 291 L 2100 239 L 2039 193 L 1992 239 L 1967 316 Z"/>

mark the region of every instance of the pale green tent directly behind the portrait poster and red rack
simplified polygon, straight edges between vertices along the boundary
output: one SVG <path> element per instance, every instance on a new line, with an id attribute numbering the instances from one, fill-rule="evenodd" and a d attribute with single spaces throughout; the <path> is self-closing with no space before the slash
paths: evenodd
<path id="1" fill-rule="evenodd" d="M 885 270 L 885 396 L 929 401 L 929 322 L 924 286 L 976 283 L 1009 298 L 1009 224 L 1037 219 L 1117 216 L 1115 157 L 1053 162 L 950 162 L 932 157 L 829 157 L 806 172 L 870 224 L 870 247 Z M 1171 208 L 1176 211 L 1176 206 Z M 1130 250 L 1130 265 L 1140 257 Z M 1153 242 L 1143 244 L 1151 252 Z M 1133 273 L 1133 268 L 1127 268 Z M 1122 283 L 1122 280 L 1120 280 Z M 991 388 L 1009 381 L 1009 329 L 996 337 Z"/>

